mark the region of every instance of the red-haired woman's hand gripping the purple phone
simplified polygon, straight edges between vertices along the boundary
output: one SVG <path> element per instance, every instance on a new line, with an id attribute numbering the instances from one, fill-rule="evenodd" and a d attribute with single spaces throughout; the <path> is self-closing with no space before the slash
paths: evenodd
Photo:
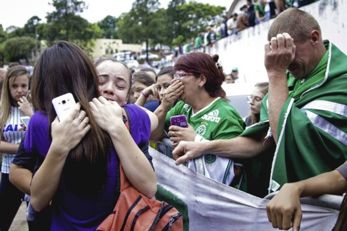
<path id="1" fill-rule="evenodd" d="M 188 127 L 170 126 L 169 136 L 170 140 L 174 142 L 172 146 L 176 147 L 180 141 L 194 141 L 196 133 L 188 123 Z"/>

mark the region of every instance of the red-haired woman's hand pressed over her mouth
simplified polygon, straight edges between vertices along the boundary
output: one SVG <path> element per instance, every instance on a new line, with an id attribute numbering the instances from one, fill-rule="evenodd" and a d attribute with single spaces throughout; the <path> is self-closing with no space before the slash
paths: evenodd
<path id="1" fill-rule="evenodd" d="M 161 104 L 167 111 L 170 110 L 177 99 L 183 94 L 183 83 L 177 79 L 173 79 L 171 85 L 164 91 Z"/>

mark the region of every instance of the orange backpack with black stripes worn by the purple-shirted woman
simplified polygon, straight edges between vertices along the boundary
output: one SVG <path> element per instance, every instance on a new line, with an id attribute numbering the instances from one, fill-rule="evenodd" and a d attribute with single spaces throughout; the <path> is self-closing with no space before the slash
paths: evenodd
<path id="1" fill-rule="evenodd" d="M 128 118 L 125 109 L 125 117 Z M 126 119 L 131 133 L 131 126 Z M 149 199 L 134 188 L 124 174 L 118 159 L 118 191 L 120 192 L 113 212 L 99 225 L 96 231 L 162 231 L 183 230 L 183 217 L 172 205 Z"/>

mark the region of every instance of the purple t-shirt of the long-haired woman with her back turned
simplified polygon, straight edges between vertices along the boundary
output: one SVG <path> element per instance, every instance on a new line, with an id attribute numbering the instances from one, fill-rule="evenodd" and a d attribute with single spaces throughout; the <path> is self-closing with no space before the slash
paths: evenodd
<path id="1" fill-rule="evenodd" d="M 148 114 L 136 105 L 125 105 L 129 112 L 129 122 L 133 139 L 137 145 L 147 142 L 151 131 Z M 48 137 L 48 117 L 35 112 L 31 117 L 24 141 L 28 153 L 34 151 L 45 157 L 50 147 Z M 147 157 L 148 158 L 148 157 Z M 113 211 L 117 202 L 117 154 L 112 147 L 107 167 L 108 179 L 98 196 L 80 196 L 67 190 L 63 181 L 52 200 L 51 230 L 91 231 Z"/>

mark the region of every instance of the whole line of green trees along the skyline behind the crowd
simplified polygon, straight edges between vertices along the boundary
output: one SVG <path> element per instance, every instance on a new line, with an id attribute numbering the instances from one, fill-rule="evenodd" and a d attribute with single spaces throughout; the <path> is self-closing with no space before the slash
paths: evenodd
<path id="1" fill-rule="evenodd" d="M 17 59 L 17 55 L 12 55 L 15 53 L 5 51 L 3 43 L 7 39 L 35 38 L 35 29 L 39 39 L 49 46 L 57 40 L 66 40 L 91 54 L 95 38 L 120 38 L 123 43 L 135 44 L 146 42 L 146 47 L 158 43 L 183 45 L 185 39 L 196 37 L 206 26 L 216 24 L 225 12 L 224 7 L 194 1 L 171 0 L 164 9 L 160 8 L 159 0 L 135 0 L 132 9 L 119 18 L 108 15 L 97 24 L 91 24 L 79 16 L 87 9 L 82 0 L 52 0 L 49 4 L 55 10 L 47 13 L 47 23 L 40 24 L 41 19 L 33 16 L 23 28 L 10 26 L 4 31 L 0 25 L 0 61 L 10 53 L 7 60 Z"/>

